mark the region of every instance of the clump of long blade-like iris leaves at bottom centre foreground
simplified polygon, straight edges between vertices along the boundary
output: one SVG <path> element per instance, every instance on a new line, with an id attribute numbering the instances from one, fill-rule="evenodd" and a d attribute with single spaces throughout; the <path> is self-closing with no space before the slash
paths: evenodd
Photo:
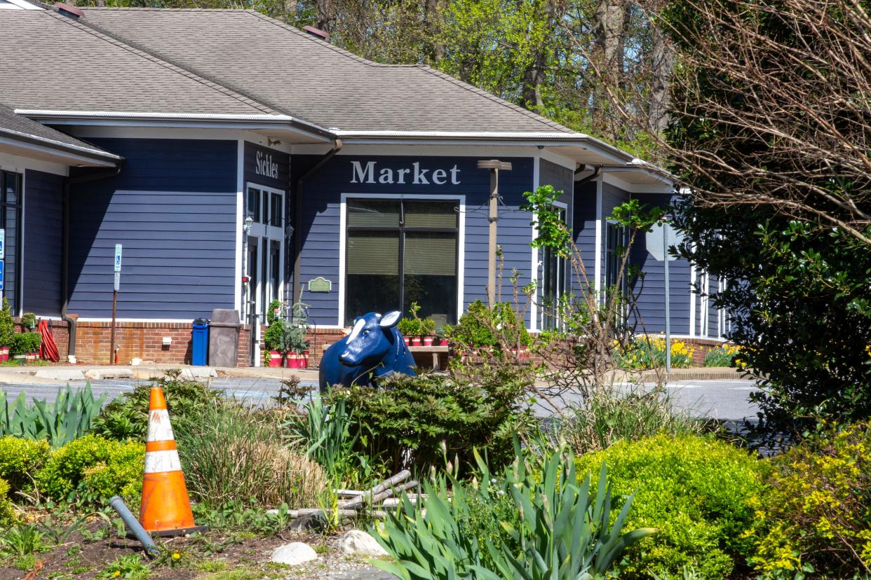
<path id="1" fill-rule="evenodd" d="M 369 530 L 395 561 L 373 563 L 415 580 L 604 577 L 626 546 L 653 531 L 623 533 L 631 498 L 611 519 L 604 466 L 591 494 L 589 475 L 577 485 L 571 453 L 557 448 L 524 457 L 514 443 L 516 460 L 493 474 L 501 477 L 476 456 L 473 489 L 449 474 L 425 482 L 419 503 L 406 497 L 382 528 Z M 500 517 L 506 519 L 494 525 Z"/>

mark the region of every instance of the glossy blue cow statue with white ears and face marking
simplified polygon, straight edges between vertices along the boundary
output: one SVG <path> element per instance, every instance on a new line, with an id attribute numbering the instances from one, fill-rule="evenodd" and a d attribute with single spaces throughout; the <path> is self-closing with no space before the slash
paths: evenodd
<path id="1" fill-rule="evenodd" d="M 321 359 L 321 392 L 330 386 L 375 384 L 379 377 L 395 372 L 415 376 L 415 359 L 405 345 L 396 323 L 401 312 L 384 316 L 375 312 L 354 319 L 351 334 L 333 343 Z"/>

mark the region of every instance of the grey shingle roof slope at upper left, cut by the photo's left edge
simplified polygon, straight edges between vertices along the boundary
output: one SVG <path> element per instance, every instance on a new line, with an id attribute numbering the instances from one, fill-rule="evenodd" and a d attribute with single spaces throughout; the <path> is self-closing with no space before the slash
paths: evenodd
<path id="1" fill-rule="evenodd" d="M 0 102 L 15 109 L 274 111 L 53 10 L 0 10 Z"/>

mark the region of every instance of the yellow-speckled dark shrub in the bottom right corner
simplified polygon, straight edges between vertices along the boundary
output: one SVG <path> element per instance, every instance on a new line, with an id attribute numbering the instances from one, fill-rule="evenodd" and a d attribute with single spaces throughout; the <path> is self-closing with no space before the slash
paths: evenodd
<path id="1" fill-rule="evenodd" d="M 792 577 L 810 564 L 827 577 L 871 572 L 871 422 L 773 458 L 766 481 L 754 503 L 757 570 Z"/>

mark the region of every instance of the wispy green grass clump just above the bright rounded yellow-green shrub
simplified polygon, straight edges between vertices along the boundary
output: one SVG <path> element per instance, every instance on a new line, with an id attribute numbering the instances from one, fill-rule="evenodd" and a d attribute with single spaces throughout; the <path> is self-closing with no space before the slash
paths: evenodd
<path id="1" fill-rule="evenodd" d="M 705 424 L 679 409 L 665 389 L 634 387 L 597 390 L 586 401 L 571 404 L 560 435 L 577 455 L 604 450 L 618 441 L 638 441 L 658 433 L 698 434 Z"/>

